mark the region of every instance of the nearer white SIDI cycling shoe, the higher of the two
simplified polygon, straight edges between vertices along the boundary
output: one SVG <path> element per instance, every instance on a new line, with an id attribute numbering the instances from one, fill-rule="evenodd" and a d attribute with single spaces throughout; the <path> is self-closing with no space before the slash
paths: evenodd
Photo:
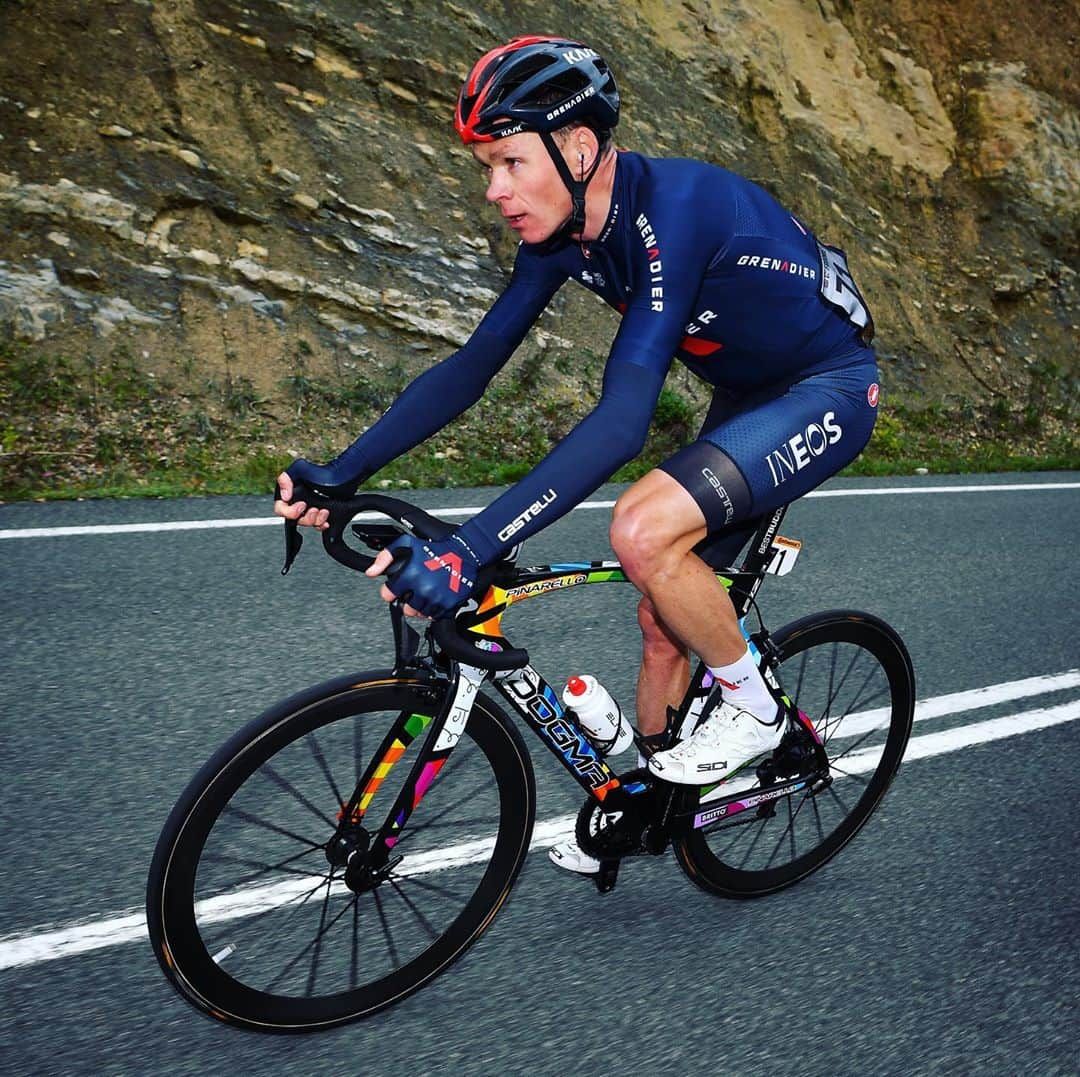
<path id="1" fill-rule="evenodd" d="M 772 722 L 764 722 L 750 711 L 720 702 L 686 740 L 652 755 L 649 770 L 679 785 L 725 781 L 778 748 L 785 726 L 782 709 L 778 708 Z"/>

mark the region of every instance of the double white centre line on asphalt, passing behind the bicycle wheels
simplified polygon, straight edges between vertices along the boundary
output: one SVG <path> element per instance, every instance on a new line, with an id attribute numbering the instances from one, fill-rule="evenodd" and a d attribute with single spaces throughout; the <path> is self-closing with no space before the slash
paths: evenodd
<path id="1" fill-rule="evenodd" d="M 1057 676 L 1027 677 L 1023 681 L 989 685 L 973 691 L 951 692 L 917 704 L 916 719 L 960 714 L 1021 696 L 1039 696 L 1075 688 L 1078 684 L 1080 684 L 1080 670 L 1069 670 Z M 940 732 L 923 733 L 913 737 L 908 742 L 904 766 L 915 759 L 926 759 L 1078 719 L 1080 719 L 1080 699 L 1075 699 L 1055 706 L 1021 711 Z M 876 756 L 877 752 L 873 749 L 847 755 L 843 759 L 843 770 L 853 773 L 868 769 Z M 532 832 L 530 848 L 546 847 L 572 836 L 575 818 L 575 816 L 561 816 L 538 822 Z M 402 874 L 426 874 L 472 863 L 485 857 L 489 848 L 490 843 L 482 839 L 433 850 L 421 858 L 414 858 L 408 870 L 403 870 Z M 283 905 L 310 889 L 311 883 L 307 879 L 289 879 L 285 883 L 222 894 L 201 906 L 201 913 L 207 921 L 226 921 Z M 147 938 L 146 916 L 141 910 L 130 910 L 106 919 L 81 920 L 51 930 L 44 927 L 36 928 L 0 938 L 0 969 L 25 968 L 145 938 Z"/>

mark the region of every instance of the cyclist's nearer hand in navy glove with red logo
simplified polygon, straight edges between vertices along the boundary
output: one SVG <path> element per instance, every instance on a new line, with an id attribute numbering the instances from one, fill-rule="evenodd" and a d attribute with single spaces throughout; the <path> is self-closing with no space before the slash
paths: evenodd
<path id="1" fill-rule="evenodd" d="M 402 550 L 407 551 L 408 560 L 379 593 L 387 602 L 407 594 L 407 616 L 442 617 L 472 594 L 480 564 L 469 547 L 453 535 L 447 539 L 403 535 L 379 552 L 367 575 L 379 576 L 392 568 L 394 554 Z"/>

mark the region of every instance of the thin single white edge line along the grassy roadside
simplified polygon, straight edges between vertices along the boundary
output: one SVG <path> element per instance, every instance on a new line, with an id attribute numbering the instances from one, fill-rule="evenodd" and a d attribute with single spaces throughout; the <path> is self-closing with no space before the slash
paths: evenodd
<path id="1" fill-rule="evenodd" d="M 812 490 L 812 497 L 887 497 L 893 494 L 986 494 L 1015 490 L 1062 490 L 1080 489 L 1080 483 L 1002 483 L 981 486 L 895 486 L 892 488 L 828 489 Z M 610 509 L 615 501 L 583 501 L 578 509 Z M 443 508 L 429 510 L 435 516 L 474 516 L 485 506 L 465 508 Z M 364 512 L 356 520 L 384 519 L 377 512 Z M 269 527 L 280 524 L 278 516 L 248 516 L 237 520 L 170 520 L 148 524 L 86 524 L 78 527 L 9 527 L 0 529 L 0 539 L 5 538 L 64 538 L 76 535 L 139 535 L 154 531 L 202 531 L 226 527 Z"/>

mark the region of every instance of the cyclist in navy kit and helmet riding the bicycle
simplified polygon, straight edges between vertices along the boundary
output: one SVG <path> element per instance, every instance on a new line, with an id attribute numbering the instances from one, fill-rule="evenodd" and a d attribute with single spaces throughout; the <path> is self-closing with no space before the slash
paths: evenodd
<path id="1" fill-rule="evenodd" d="M 421 374 L 327 466 L 279 477 L 279 515 L 325 527 L 291 503 L 293 481 L 351 494 L 366 476 L 474 404 L 555 292 L 576 280 L 622 312 L 596 407 L 524 479 L 450 538 L 403 536 L 368 575 L 406 611 L 443 616 L 477 569 L 581 502 L 643 448 L 678 359 L 714 387 L 698 440 L 618 500 L 611 547 L 642 592 L 638 727 L 661 732 L 689 679 L 689 652 L 714 691 L 693 733 L 649 769 L 697 784 L 730 777 L 780 742 L 784 715 L 762 681 L 713 570 L 757 520 L 850 463 L 877 413 L 873 321 L 843 253 L 820 243 L 755 184 L 692 160 L 617 150 L 619 93 L 605 60 L 562 38 L 522 37 L 482 56 L 456 126 L 486 199 L 521 243 L 505 291 L 459 351 Z M 407 560 L 391 567 L 392 550 Z M 562 866 L 598 870 L 576 844 Z"/>

